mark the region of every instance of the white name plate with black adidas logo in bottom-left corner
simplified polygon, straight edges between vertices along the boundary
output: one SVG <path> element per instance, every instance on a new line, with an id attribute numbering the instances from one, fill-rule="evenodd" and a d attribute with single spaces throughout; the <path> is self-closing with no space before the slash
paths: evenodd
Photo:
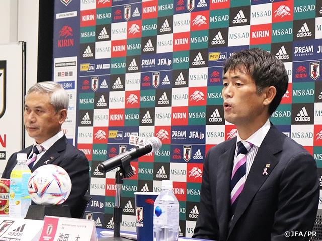
<path id="1" fill-rule="evenodd" d="M 0 241 L 38 241 L 43 220 L 0 218 Z"/>

